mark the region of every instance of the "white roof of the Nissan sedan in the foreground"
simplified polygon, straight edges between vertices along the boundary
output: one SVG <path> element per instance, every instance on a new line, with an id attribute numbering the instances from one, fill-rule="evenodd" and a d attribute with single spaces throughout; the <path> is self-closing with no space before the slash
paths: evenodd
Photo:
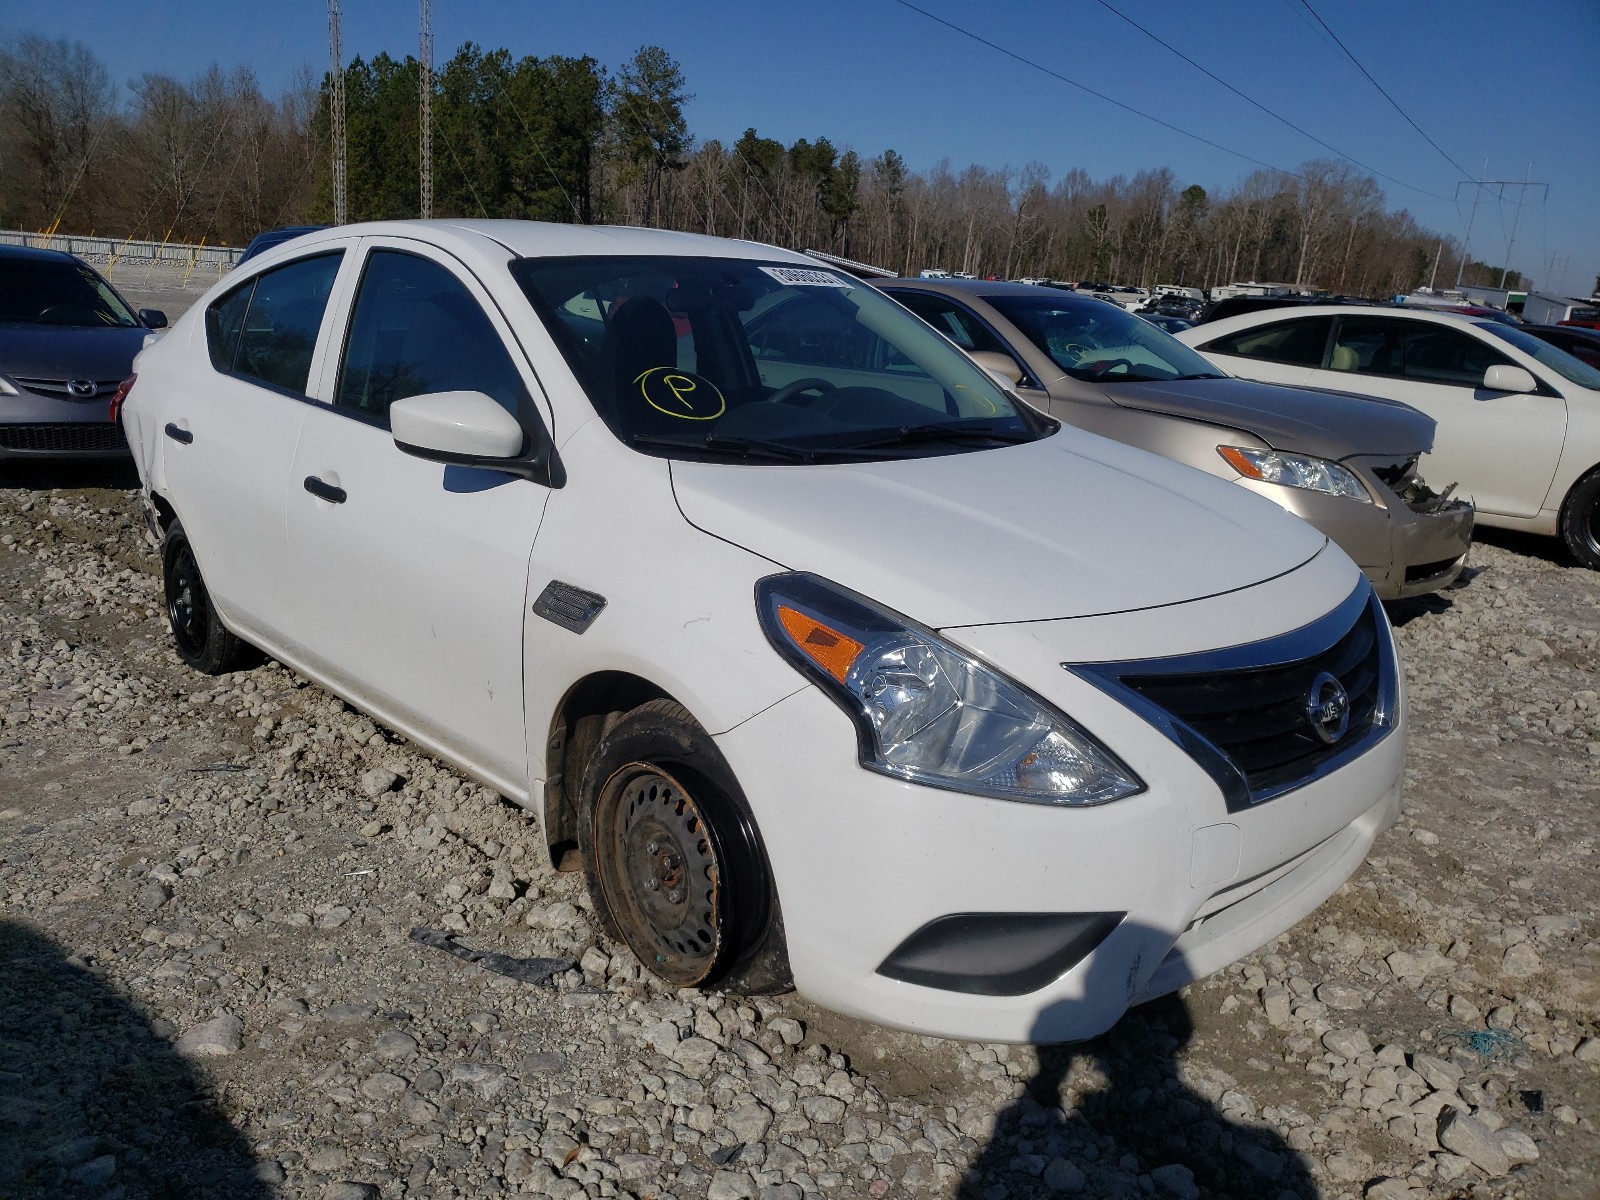
<path id="1" fill-rule="evenodd" d="M 674 229 L 630 229 L 626 226 L 570 226 L 554 221 L 373 221 L 354 226 L 330 226 L 317 234 L 294 238 L 296 250 L 341 237 L 389 234 L 422 242 L 451 243 L 493 242 L 517 258 L 597 256 L 686 256 L 779 259 L 826 269 L 824 264 L 790 250 L 760 242 L 741 242 L 706 234 L 680 234 Z"/>

